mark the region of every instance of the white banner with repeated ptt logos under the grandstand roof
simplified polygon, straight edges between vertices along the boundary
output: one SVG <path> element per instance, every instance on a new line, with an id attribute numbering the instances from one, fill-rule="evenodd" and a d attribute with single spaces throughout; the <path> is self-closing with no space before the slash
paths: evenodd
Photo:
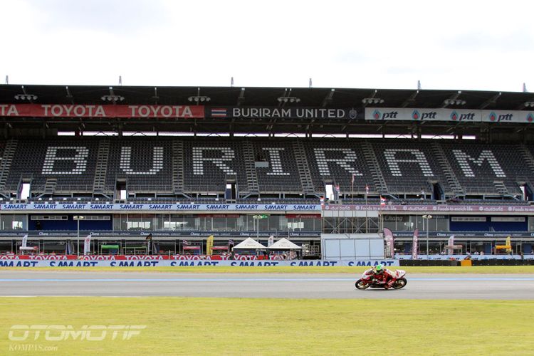
<path id="1" fill-rule="evenodd" d="M 534 122 L 534 112 L 520 110 L 365 108 L 365 120 L 530 123 Z"/>

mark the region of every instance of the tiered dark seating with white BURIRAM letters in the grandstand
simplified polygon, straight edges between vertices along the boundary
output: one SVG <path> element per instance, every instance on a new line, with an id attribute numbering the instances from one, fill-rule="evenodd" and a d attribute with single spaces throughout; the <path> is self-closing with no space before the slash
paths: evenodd
<path id="1" fill-rule="evenodd" d="M 17 197 L 31 182 L 32 201 L 110 201 L 118 182 L 130 201 L 224 201 L 231 183 L 236 201 L 317 202 L 325 184 L 339 184 L 346 202 L 362 199 L 368 185 L 370 199 L 416 204 L 422 190 L 425 203 L 517 199 L 520 184 L 534 182 L 534 147 L 468 140 L 58 137 L 0 141 L 0 157 L 1 194 Z"/>

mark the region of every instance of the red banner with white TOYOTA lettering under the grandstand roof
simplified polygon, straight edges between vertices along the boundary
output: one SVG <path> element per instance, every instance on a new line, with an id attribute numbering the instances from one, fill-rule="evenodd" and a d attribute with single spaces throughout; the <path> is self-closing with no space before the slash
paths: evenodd
<path id="1" fill-rule="evenodd" d="M 2 117 L 180 117 L 204 118 L 203 105 L 0 104 Z"/>

